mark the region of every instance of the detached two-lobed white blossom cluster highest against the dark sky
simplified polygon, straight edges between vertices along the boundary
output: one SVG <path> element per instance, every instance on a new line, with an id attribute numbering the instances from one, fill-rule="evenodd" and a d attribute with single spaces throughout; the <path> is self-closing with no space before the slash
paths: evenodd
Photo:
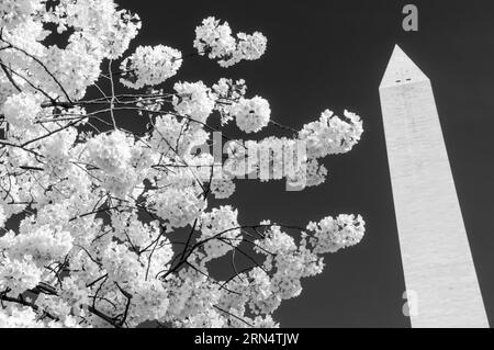
<path id="1" fill-rule="evenodd" d="M 231 67 L 244 59 L 259 59 L 265 54 L 267 38 L 261 33 L 238 33 L 234 37 L 228 23 L 220 22 L 210 16 L 195 29 L 194 47 L 199 54 L 218 59 L 222 67 Z"/>

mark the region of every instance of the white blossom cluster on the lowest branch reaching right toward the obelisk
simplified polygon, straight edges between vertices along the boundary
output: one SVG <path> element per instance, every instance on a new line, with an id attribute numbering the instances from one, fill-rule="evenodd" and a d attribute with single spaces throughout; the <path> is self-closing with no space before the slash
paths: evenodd
<path id="1" fill-rule="evenodd" d="M 328 223 L 334 223 L 330 234 Z M 266 256 L 266 260 L 261 266 L 227 282 L 227 291 L 220 301 L 222 308 L 234 315 L 242 315 L 248 309 L 254 315 L 266 317 L 268 327 L 274 327 L 270 314 L 283 300 L 300 295 L 301 279 L 323 271 L 324 259 L 321 255 L 360 241 L 363 225 L 360 216 L 340 215 L 337 219 L 326 217 L 319 223 L 311 223 L 308 232 L 303 232 L 300 242 L 296 242 L 280 226 L 262 222 L 261 226 L 266 227 L 262 230 L 263 238 L 254 244 L 255 250 Z"/>

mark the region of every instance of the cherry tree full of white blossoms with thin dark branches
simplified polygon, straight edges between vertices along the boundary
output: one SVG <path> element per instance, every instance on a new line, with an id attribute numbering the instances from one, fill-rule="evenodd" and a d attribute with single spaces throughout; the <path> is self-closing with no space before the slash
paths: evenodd
<path id="1" fill-rule="evenodd" d="M 360 215 L 255 224 L 207 205 L 245 177 L 323 183 L 322 159 L 359 142 L 358 115 L 326 110 L 296 131 L 244 80 L 170 84 L 190 55 L 127 53 L 139 29 L 112 0 L 0 3 L 0 327 L 277 327 L 301 279 L 363 236 Z M 49 45 L 57 34 L 65 43 Z M 207 18 L 193 48 L 227 68 L 260 58 L 267 38 Z M 143 131 L 125 129 L 124 113 Z M 221 134 L 217 159 L 209 146 L 231 123 L 290 136 Z M 251 264 L 236 269 L 235 253 Z M 210 271 L 218 259 L 233 261 L 227 280 Z"/>

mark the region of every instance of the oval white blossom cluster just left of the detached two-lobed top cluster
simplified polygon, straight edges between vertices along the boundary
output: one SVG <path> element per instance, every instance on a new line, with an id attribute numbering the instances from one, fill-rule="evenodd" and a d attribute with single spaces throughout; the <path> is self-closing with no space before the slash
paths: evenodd
<path id="1" fill-rule="evenodd" d="M 120 65 L 124 86 L 141 89 L 157 86 L 173 77 L 182 65 L 182 54 L 175 48 L 157 46 L 138 46 L 134 54 Z"/>

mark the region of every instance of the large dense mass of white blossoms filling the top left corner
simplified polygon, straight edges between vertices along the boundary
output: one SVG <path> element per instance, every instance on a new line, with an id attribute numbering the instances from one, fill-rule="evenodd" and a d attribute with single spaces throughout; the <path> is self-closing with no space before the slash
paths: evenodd
<path id="1" fill-rule="evenodd" d="M 82 98 L 99 79 L 101 61 L 121 57 L 141 29 L 138 16 L 116 10 L 113 0 L 60 0 L 55 7 L 36 0 L 4 0 L 0 21 L 1 46 L 9 46 L 0 50 L 0 59 L 16 87 L 43 87 L 46 95 L 64 101 Z M 47 24 L 69 33 L 67 42 L 44 45 L 50 33 Z M 3 91 L 11 79 L 0 81 Z"/>

